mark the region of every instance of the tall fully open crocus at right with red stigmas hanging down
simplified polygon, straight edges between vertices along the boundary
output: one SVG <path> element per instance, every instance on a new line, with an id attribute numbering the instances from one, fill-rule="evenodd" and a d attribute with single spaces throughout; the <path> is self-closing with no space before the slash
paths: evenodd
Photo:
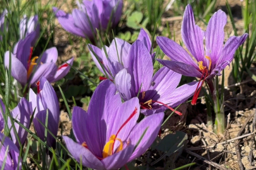
<path id="1" fill-rule="evenodd" d="M 226 14 L 219 10 L 210 18 L 206 31 L 202 31 L 199 26 L 195 25 L 192 7 L 189 4 L 186 6 L 181 36 L 186 48 L 197 62 L 178 43 L 166 37 L 157 37 L 157 44 L 171 59 L 158 59 L 162 65 L 184 76 L 198 77 L 202 81 L 195 92 L 192 105 L 195 105 L 197 101 L 203 82 L 211 81 L 216 75 L 220 76 L 221 71 L 233 60 L 236 49 L 248 37 L 247 33 L 241 37 L 232 36 L 223 45 L 226 22 Z"/>

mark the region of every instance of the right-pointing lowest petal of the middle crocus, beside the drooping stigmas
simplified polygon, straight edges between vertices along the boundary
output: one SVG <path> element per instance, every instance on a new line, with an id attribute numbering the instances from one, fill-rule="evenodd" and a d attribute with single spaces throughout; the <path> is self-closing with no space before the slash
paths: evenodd
<path id="1" fill-rule="evenodd" d="M 166 95 L 162 96 L 162 98 L 159 98 L 159 101 L 164 101 L 166 104 L 170 103 L 171 107 L 176 107 L 193 96 L 195 90 L 197 89 L 198 83 L 199 82 L 193 81 L 188 84 L 184 84 L 183 86 L 176 88 L 173 93 L 169 94 L 168 96 Z"/>

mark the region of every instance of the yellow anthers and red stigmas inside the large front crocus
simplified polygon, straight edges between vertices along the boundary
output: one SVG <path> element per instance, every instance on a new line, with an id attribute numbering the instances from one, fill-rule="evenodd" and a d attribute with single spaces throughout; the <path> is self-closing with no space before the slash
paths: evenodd
<path id="1" fill-rule="evenodd" d="M 131 113 L 131 115 L 127 118 L 127 120 L 123 123 L 123 125 L 121 125 L 121 127 L 119 128 L 119 130 L 116 133 L 116 135 L 111 135 L 111 137 L 109 138 L 109 141 L 104 145 L 104 149 L 102 151 L 102 157 L 103 158 L 96 156 L 97 159 L 102 160 L 102 159 L 104 159 L 104 158 L 106 158 L 108 156 L 112 156 L 114 153 L 118 153 L 121 150 L 123 150 L 123 140 L 117 138 L 118 133 L 123 129 L 123 127 L 125 127 L 125 125 L 131 120 L 131 118 L 133 118 L 133 116 L 136 115 L 137 110 L 138 109 L 135 108 L 133 113 Z M 116 140 L 118 140 L 120 144 L 119 144 L 118 149 L 114 150 L 114 144 L 115 144 Z M 128 140 L 126 144 L 129 145 L 130 141 Z M 82 146 L 88 149 L 88 146 L 87 146 L 86 142 L 83 142 Z"/>

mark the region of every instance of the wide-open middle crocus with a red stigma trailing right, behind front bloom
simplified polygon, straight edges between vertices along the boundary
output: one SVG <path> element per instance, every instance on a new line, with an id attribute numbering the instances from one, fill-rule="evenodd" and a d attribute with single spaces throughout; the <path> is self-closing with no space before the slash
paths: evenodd
<path id="1" fill-rule="evenodd" d="M 167 108 L 178 106 L 193 95 L 197 82 L 177 88 L 181 74 L 162 67 L 155 73 L 152 57 L 143 43 L 137 40 L 128 53 L 127 69 L 116 74 L 114 83 L 125 101 L 138 96 L 141 113 L 152 115 Z M 176 111 L 179 115 L 180 112 Z"/>

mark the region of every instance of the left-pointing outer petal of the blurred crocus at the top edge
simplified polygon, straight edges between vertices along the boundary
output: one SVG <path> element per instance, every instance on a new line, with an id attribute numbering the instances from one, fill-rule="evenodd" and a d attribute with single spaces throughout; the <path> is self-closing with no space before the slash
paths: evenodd
<path id="1" fill-rule="evenodd" d="M 83 31 L 75 26 L 75 21 L 71 14 L 66 14 L 64 11 L 61 11 L 56 7 L 52 8 L 52 10 L 56 13 L 55 16 L 64 30 L 85 38 Z"/>

